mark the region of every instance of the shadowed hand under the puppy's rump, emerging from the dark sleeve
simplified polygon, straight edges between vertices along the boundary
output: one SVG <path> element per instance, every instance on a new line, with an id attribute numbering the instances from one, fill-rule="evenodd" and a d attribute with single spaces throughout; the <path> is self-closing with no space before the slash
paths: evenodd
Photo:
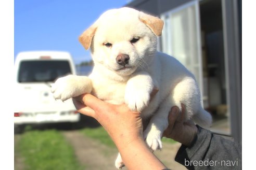
<path id="1" fill-rule="evenodd" d="M 182 111 L 177 106 L 172 107 L 169 112 L 169 126 L 163 136 L 172 138 L 185 146 L 190 146 L 197 134 L 197 126 L 191 120 L 184 121 L 186 108 L 182 104 Z"/>

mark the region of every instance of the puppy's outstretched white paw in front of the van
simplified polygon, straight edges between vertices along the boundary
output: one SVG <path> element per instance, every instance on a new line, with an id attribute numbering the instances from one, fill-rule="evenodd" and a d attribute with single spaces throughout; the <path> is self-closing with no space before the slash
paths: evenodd
<path id="1" fill-rule="evenodd" d="M 58 78 L 54 84 L 52 84 L 52 93 L 55 99 L 66 101 L 71 97 L 75 97 L 76 87 L 74 84 L 74 75 L 68 75 Z"/>

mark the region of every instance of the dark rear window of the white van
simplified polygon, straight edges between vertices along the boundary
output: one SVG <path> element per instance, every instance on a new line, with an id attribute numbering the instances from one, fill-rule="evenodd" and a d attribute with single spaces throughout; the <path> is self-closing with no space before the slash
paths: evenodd
<path id="1" fill-rule="evenodd" d="M 71 73 L 67 60 L 20 62 L 18 82 L 48 82 Z"/>

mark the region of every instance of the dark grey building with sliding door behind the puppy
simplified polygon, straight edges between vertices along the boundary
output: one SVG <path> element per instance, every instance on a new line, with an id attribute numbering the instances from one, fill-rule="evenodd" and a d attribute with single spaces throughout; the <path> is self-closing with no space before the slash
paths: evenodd
<path id="1" fill-rule="evenodd" d="M 241 0 L 135 0 L 164 21 L 158 49 L 194 73 L 215 133 L 241 143 Z"/>

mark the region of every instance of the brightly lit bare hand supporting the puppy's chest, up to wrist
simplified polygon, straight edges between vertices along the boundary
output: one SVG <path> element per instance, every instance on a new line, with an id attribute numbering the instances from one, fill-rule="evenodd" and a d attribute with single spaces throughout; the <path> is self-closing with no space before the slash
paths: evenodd
<path id="1" fill-rule="evenodd" d="M 73 98 L 75 108 L 83 115 L 95 118 L 108 132 L 114 143 L 130 143 L 142 136 L 143 126 L 139 112 L 125 104 L 114 105 L 91 94 Z"/>

